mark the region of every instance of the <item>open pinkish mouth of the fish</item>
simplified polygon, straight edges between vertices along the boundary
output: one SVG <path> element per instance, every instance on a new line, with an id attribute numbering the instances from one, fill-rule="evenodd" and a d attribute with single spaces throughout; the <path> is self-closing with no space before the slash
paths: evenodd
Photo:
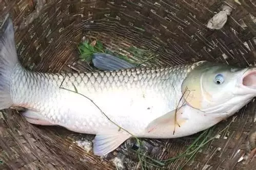
<path id="1" fill-rule="evenodd" d="M 248 70 L 242 77 L 242 85 L 247 88 L 256 89 L 256 70 Z"/>

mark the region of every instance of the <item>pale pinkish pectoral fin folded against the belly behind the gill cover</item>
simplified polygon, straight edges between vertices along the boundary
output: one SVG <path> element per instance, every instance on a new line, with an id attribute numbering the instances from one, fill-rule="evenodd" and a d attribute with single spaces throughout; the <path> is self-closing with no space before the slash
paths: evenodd
<path id="1" fill-rule="evenodd" d="M 151 123 L 149 123 L 146 128 L 146 132 L 157 132 L 166 128 L 174 129 L 175 126 L 182 126 L 187 121 L 187 118 L 182 115 L 185 107 L 186 106 L 179 107 L 161 117 L 157 117 Z"/>

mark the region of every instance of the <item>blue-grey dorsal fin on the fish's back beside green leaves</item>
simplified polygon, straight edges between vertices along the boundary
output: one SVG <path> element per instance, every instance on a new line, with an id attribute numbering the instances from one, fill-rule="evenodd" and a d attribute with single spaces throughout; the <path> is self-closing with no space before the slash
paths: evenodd
<path id="1" fill-rule="evenodd" d="M 101 70 L 118 70 L 135 67 L 127 61 L 105 53 L 94 53 L 92 62 L 96 68 Z"/>

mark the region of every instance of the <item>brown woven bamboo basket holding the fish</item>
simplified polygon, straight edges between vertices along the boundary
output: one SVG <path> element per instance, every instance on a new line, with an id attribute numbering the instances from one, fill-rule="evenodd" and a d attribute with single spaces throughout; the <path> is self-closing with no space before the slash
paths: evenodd
<path id="1" fill-rule="evenodd" d="M 225 5 L 231 10 L 225 25 L 208 28 L 208 21 Z M 154 62 L 143 65 L 209 60 L 246 67 L 256 61 L 252 0 L 0 0 L 0 18 L 8 13 L 19 61 L 33 71 L 91 71 L 90 64 L 79 60 L 77 44 L 83 39 L 101 40 L 116 53 L 135 46 L 157 54 Z M 141 161 L 134 152 L 135 140 L 98 157 L 90 150 L 94 135 L 31 125 L 19 110 L 6 109 L 0 113 L 0 169 L 255 169 L 248 145 L 256 130 L 255 109 L 252 101 L 216 125 L 212 140 L 193 159 L 181 157 L 162 166 L 151 165 L 151 158 L 161 162 L 179 156 L 204 132 L 141 139 L 144 155 L 150 157 L 144 166 L 145 156 Z"/>

